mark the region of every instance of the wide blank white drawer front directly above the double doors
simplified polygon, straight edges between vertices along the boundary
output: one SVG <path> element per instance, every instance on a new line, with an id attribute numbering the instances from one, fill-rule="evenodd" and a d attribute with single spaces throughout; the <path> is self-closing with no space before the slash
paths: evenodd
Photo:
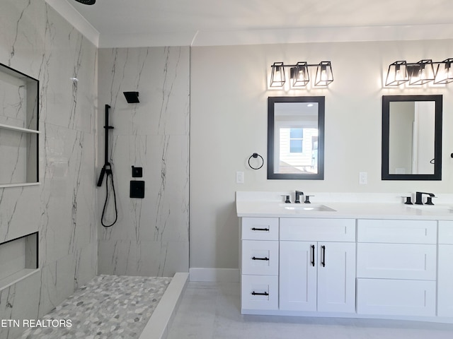
<path id="1" fill-rule="evenodd" d="M 280 240 L 355 242 L 355 219 L 282 218 Z"/>

